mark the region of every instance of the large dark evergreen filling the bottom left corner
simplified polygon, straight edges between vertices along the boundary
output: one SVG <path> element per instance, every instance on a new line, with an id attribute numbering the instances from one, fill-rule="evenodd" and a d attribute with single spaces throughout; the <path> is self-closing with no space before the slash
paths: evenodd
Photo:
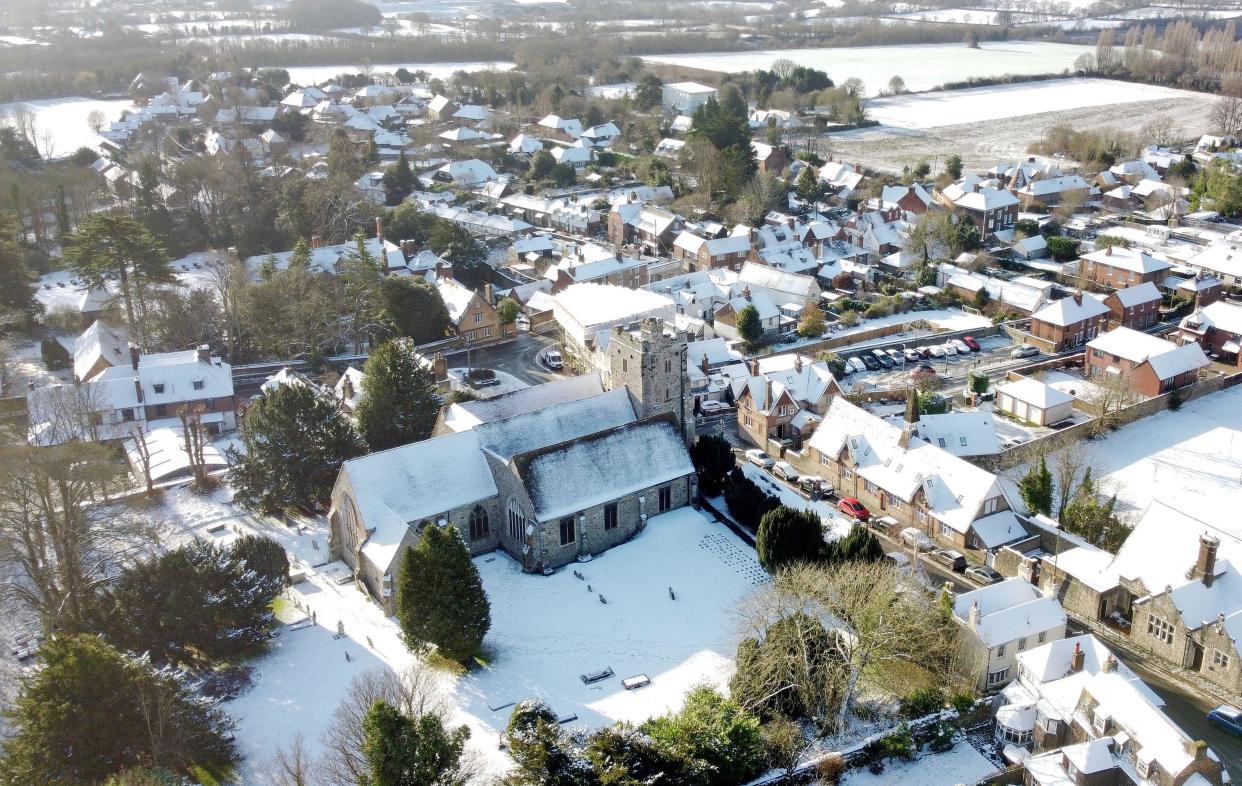
<path id="1" fill-rule="evenodd" d="M 153 765 L 229 780 L 238 761 L 232 721 L 171 677 L 93 636 L 50 638 L 39 664 L 4 714 L 0 784 L 99 784 Z"/>

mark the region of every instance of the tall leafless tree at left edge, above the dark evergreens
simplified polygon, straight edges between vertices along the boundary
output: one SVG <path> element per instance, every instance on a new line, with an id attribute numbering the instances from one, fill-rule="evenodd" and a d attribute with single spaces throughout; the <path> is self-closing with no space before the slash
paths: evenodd
<path id="1" fill-rule="evenodd" d="M 154 522 L 96 502 L 117 473 L 97 442 L 0 446 L 0 601 L 37 615 L 48 636 L 76 627 L 96 585 L 158 543 Z"/>

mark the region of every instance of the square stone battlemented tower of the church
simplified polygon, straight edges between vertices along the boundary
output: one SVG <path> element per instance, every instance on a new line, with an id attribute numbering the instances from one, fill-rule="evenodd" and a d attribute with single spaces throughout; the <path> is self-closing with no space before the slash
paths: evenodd
<path id="1" fill-rule="evenodd" d="M 643 319 L 637 330 L 616 327 L 609 340 L 609 389 L 625 387 L 640 418 L 671 413 L 694 441 L 694 396 L 686 375 L 684 332 Z"/>

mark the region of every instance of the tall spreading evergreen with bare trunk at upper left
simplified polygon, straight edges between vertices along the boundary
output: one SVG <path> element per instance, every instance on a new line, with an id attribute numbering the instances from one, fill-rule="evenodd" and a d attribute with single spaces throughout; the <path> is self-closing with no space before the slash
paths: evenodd
<path id="1" fill-rule="evenodd" d="M 176 282 L 168 252 L 129 216 L 94 214 L 84 220 L 65 247 L 65 261 L 87 287 L 116 279 L 125 302 L 125 320 L 139 341 L 145 338 L 147 305 L 152 288 Z"/>

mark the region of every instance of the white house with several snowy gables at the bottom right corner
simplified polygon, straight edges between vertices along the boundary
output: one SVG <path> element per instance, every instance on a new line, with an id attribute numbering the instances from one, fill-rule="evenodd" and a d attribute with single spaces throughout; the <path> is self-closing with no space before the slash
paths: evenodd
<path id="1" fill-rule="evenodd" d="M 1164 713 L 1164 700 L 1094 636 L 1017 656 L 995 735 L 1023 784 L 1221 786 L 1220 757 Z M 1042 755 L 1031 755 L 1042 754 Z"/>

